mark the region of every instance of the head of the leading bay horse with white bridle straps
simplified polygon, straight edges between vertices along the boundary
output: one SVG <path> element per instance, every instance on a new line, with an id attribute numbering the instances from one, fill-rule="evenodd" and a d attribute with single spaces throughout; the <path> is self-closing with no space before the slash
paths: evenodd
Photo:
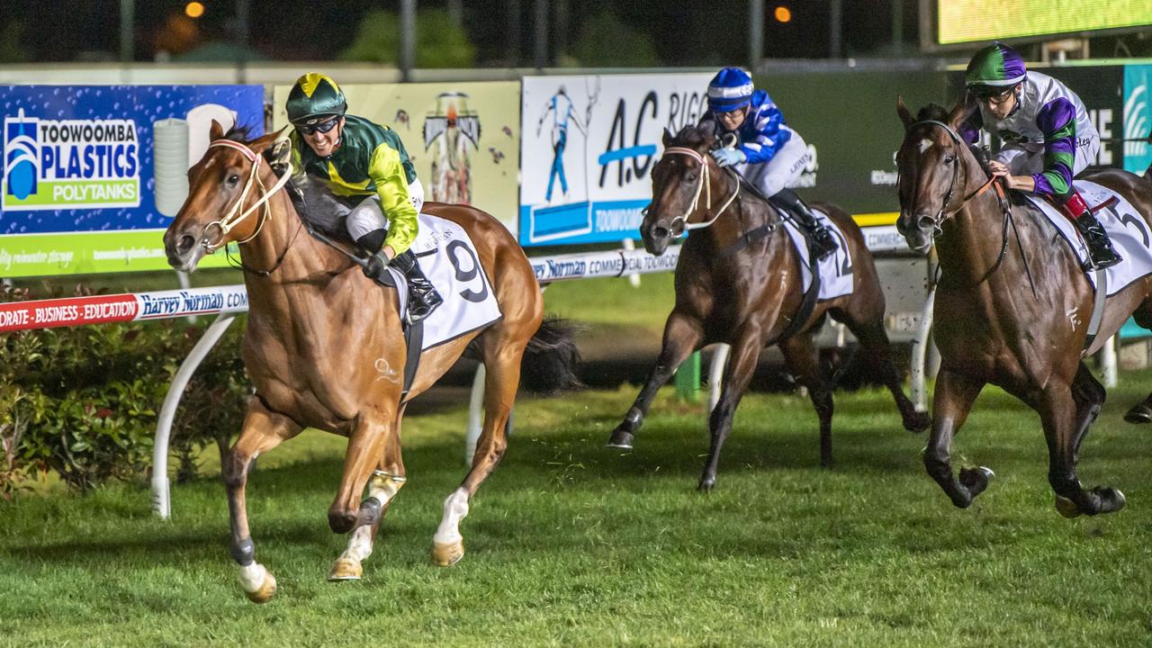
<path id="1" fill-rule="evenodd" d="M 279 188 L 271 187 L 276 180 L 270 167 L 291 156 L 290 142 L 276 133 L 242 142 L 227 138 L 213 121 L 210 140 L 188 171 L 188 198 L 164 233 L 168 264 L 185 272 L 196 270 L 204 255 L 259 233 L 267 212 L 257 208 Z"/>

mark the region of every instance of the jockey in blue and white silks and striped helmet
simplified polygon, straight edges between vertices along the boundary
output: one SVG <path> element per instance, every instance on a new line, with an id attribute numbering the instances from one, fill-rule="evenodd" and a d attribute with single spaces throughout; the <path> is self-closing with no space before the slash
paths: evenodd
<path id="1" fill-rule="evenodd" d="M 785 123 L 785 115 L 752 77 L 740 68 L 723 68 L 708 83 L 708 111 L 700 122 L 714 121 L 723 134 L 736 135 L 735 148 L 712 151 L 722 168 L 732 166 L 772 204 L 794 220 L 812 239 L 818 258 L 836 250 L 836 240 L 817 221 L 808 205 L 788 187 L 799 179 L 808 164 L 808 145 Z"/>

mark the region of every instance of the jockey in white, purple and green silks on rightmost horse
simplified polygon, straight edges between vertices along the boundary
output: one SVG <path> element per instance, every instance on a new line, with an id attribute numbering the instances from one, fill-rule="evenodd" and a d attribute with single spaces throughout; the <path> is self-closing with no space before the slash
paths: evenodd
<path id="1" fill-rule="evenodd" d="M 1100 135 L 1075 92 L 1051 76 L 1026 71 L 1020 53 L 993 43 L 972 56 L 964 74 L 968 103 L 979 111 L 960 135 L 976 143 L 980 128 L 1003 141 L 988 163 L 1009 189 L 1038 194 L 1060 209 L 1087 243 L 1087 270 L 1122 259 L 1107 233 L 1073 187 L 1073 178 L 1092 164 Z"/>

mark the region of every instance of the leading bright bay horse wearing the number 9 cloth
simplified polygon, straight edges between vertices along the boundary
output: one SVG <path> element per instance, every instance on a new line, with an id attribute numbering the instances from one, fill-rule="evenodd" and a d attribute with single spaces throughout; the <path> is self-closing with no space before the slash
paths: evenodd
<path id="1" fill-rule="evenodd" d="M 408 399 L 429 389 L 465 347 L 476 349 L 486 368 L 484 427 L 471 469 L 445 500 L 433 536 L 433 560 L 450 565 L 464 552 L 458 526 L 469 499 L 503 455 L 522 357 L 560 363 L 554 367 L 555 384 L 544 385 L 548 387 L 571 378 L 567 362 L 575 357 L 564 331 L 558 334 L 551 321 L 541 325 L 539 285 L 508 231 L 477 209 L 425 204 L 424 211 L 467 231 L 502 318 L 424 352 L 402 399 L 406 345 L 395 292 L 364 277 L 346 254 L 301 234 L 293 202 L 287 191 L 279 191 L 288 174 L 278 179 L 274 171 L 287 167 L 289 157 L 285 137 L 273 134 L 245 143 L 226 138 L 213 125 L 211 146 L 189 172 L 188 199 L 164 235 L 168 263 L 184 271 L 229 241 L 241 243 L 249 296 L 243 357 L 256 395 L 221 472 L 232 556 L 245 593 L 256 602 L 275 593 L 275 578 L 255 560 L 244 504 L 248 469 L 257 454 L 305 427 L 348 437 L 328 526 L 351 536 L 329 580 L 359 578 L 361 560 L 371 553 L 380 520 L 407 480 L 400 424 Z"/>

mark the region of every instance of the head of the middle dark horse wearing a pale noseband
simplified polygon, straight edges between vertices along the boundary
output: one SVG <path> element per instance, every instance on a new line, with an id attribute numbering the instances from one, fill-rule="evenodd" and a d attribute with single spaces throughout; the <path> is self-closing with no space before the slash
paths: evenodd
<path id="1" fill-rule="evenodd" d="M 720 202 L 722 193 L 720 167 L 708 155 L 715 144 L 715 127 L 710 122 L 685 126 L 675 137 L 665 130 L 664 156 L 652 167 L 652 204 L 641 224 L 649 253 L 661 255 L 687 229 L 711 225 L 713 196 Z"/>

